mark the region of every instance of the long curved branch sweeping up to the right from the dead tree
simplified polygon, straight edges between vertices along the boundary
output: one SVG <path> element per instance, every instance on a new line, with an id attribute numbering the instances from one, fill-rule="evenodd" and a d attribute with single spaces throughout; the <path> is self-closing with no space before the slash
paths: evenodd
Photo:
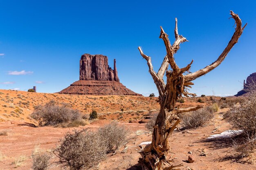
<path id="1" fill-rule="evenodd" d="M 218 65 L 220 65 L 220 63 L 222 63 L 222 61 L 225 59 L 225 57 L 227 57 L 227 54 L 229 53 L 231 48 L 238 42 L 238 39 L 240 38 L 240 36 L 243 33 L 243 28 L 241 27 L 242 22 L 241 22 L 241 19 L 238 17 L 238 15 L 235 14 L 233 11 L 230 11 L 230 15 L 232 16 L 232 18 L 234 18 L 234 20 L 236 22 L 236 31 L 235 31 L 234 35 L 231 37 L 231 40 L 229 41 L 229 44 L 227 45 L 225 50 L 220 54 L 218 59 L 215 62 L 213 62 L 211 65 L 207 65 L 207 67 L 205 67 L 201 70 L 198 70 L 191 74 L 187 74 L 185 76 L 185 81 L 193 81 L 196 78 L 198 78 L 204 74 L 207 74 L 208 72 L 210 72 L 211 70 L 216 68 Z"/>

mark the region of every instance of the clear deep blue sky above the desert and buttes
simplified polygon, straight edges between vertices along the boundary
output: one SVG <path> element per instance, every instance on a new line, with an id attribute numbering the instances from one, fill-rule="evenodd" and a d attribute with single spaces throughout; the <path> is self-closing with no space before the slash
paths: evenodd
<path id="1" fill-rule="evenodd" d="M 157 93 L 137 47 L 157 71 L 166 54 L 159 26 L 173 42 L 177 17 L 179 34 L 189 40 L 175 55 L 177 64 L 193 59 L 191 72 L 204 68 L 233 35 L 233 10 L 248 23 L 243 35 L 218 68 L 194 81 L 191 92 L 234 95 L 256 72 L 255 9 L 255 0 L 0 0 L 0 89 L 36 85 L 38 92 L 59 92 L 79 80 L 79 59 L 89 53 L 108 56 L 110 67 L 116 59 L 126 87 L 145 96 Z"/>

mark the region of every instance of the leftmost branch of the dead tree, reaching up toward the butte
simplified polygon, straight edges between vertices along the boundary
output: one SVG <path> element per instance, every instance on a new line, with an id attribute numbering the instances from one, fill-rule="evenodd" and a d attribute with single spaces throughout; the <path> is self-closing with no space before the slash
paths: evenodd
<path id="1" fill-rule="evenodd" d="M 149 68 L 149 73 L 151 74 L 154 82 L 155 82 L 155 85 L 157 86 L 157 89 L 158 89 L 158 92 L 159 92 L 159 96 L 160 96 L 160 99 L 162 99 L 163 95 L 164 95 L 164 88 L 165 88 L 165 83 L 164 83 L 164 80 L 162 78 L 159 78 L 156 74 L 156 72 L 154 71 L 153 69 L 153 65 L 151 63 L 151 58 L 149 56 L 147 56 L 146 54 L 143 53 L 141 47 L 138 47 L 139 49 L 139 52 L 141 54 L 141 56 L 146 59 L 147 61 L 147 64 L 148 64 L 148 68 Z"/>

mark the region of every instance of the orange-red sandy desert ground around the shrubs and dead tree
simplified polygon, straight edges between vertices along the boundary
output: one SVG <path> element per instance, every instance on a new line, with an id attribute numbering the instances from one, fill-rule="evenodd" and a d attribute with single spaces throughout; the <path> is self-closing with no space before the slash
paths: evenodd
<path id="1" fill-rule="evenodd" d="M 32 158 L 36 146 L 40 145 L 41 150 L 50 151 L 58 145 L 58 141 L 65 135 L 66 132 L 74 128 L 55 128 L 55 127 L 31 127 L 27 123 L 34 123 L 28 117 L 33 111 L 33 106 L 44 104 L 49 100 L 58 102 L 68 102 L 73 108 L 79 109 L 82 113 L 88 114 L 92 109 L 97 109 L 101 114 L 101 119 L 92 122 L 86 126 L 80 126 L 76 129 L 90 128 L 97 129 L 104 124 L 109 123 L 112 119 L 117 119 L 119 124 L 123 124 L 130 129 L 130 139 L 126 153 L 121 153 L 124 147 L 121 147 L 116 155 L 108 155 L 101 161 L 96 168 L 98 170 L 132 170 L 138 159 L 141 142 L 151 141 L 150 134 L 136 135 L 143 133 L 146 130 L 145 124 L 128 123 L 128 120 L 137 122 L 143 119 L 143 115 L 149 112 L 156 112 L 159 109 L 157 98 L 134 97 L 134 96 L 78 96 L 64 94 L 44 94 L 44 93 L 28 93 L 21 91 L 0 90 L 4 94 L 0 94 L 0 131 L 8 130 L 7 136 L 0 136 L 0 170 L 31 169 Z M 19 98 L 20 96 L 20 98 Z M 219 100 L 218 97 L 213 97 Z M 209 97 L 202 98 L 203 105 L 209 104 Z M 181 107 L 198 105 L 201 103 L 195 102 L 198 98 L 185 98 L 185 103 Z M 23 104 L 23 102 L 27 104 Z M 3 106 L 3 105 L 7 105 Z M 9 107 L 13 106 L 13 107 Z M 85 107 L 86 106 L 86 107 Z M 85 110 L 86 108 L 86 110 Z M 125 108 L 120 118 L 121 108 Z M 19 111 L 17 111 L 18 109 Z M 20 113 L 20 110 L 23 110 Z M 11 112 L 13 111 L 13 112 Z M 246 162 L 237 162 L 232 159 L 234 152 L 231 148 L 231 140 L 218 139 L 206 140 L 209 135 L 219 134 L 223 131 L 231 129 L 222 118 L 223 112 L 227 109 L 220 109 L 216 113 L 216 117 L 208 126 L 188 131 L 175 131 L 169 138 L 171 152 L 168 155 L 169 159 L 174 159 L 174 164 L 183 163 L 184 170 L 255 170 L 256 165 Z M 108 113 L 109 112 L 109 113 Z M 11 115 L 13 113 L 13 115 Z M 17 113 L 17 114 L 16 114 Z M 133 115 L 132 115 L 133 114 Z M 5 116 L 7 115 L 7 116 Z M 29 119 L 28 119 L 28 118 Z M 218 127 L 217 131 L 214 131 Z M 214 132 L 212 132 L 214 131 Z M 200 152 L 204 148 L 206 156 L 200 156 Z M 195 157 L 194 163 L 186 163 L 188 156 L 191 153 Z M 16 164 L 18 158 L 22 160 L 20 164 Z M 16 161 L 15 161 L 16 160 Z M 23 161 L 24 160 L 24 161 Z M 57 161 L 56 157 L 52 161 Z M 53 170 L 61 169 L 56 163 L 51 167 Z"/>

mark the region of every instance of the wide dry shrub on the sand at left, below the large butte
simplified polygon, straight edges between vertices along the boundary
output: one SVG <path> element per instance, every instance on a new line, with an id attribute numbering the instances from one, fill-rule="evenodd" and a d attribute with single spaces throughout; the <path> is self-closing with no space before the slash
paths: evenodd
<path id="1" fill-rule="evenodd" d="M 30 115 L 38 121 L 39 126 L 55 126 L 81 120 L 81 113 L 67 104 L 56 105 L 54 100 L 45 105 L 38 105 Z"/>

